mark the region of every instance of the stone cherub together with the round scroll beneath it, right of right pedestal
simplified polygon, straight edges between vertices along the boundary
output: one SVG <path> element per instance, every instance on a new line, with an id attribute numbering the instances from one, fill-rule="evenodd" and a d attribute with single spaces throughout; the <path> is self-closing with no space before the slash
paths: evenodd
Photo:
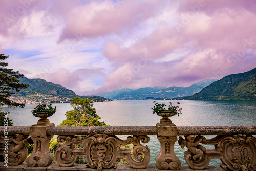
<path id="1" fill-rule="evenodd" d="M 184 153 L 185 160 L 189 167 L 192 169 L 204 169 L 206 168 L 210 163 L 210 157 L 209 153 L 208 155 L 205 153 L 206 148 L 202 145 L 199 145 L 199 143 L 205 142 L 205 137 L 197 136 L 195 138 L 195 135 L 188 135 L 185 136 L 185 139 L 182 137 L 179 137 L 179 145 L 183 149 L 184 146 L 187 147 L 187 151 Z"/>

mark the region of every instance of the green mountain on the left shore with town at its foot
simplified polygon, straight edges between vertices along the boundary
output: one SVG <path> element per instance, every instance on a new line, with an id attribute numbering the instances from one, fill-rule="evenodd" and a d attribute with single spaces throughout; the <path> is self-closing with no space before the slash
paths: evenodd
<path id="1" fill-rule="evenodd" d="M 110 99 L 106 99 L 100 96 L 78 96 L 75 94 L 74 91 L 69 90 L 59 84 L 54 84 L 52 82 L 47 82 L 44 79 L 35 78 L 29 79 L 26 77 L 20 78 L 19 83 L 29 84 L 27 89 L 22 89 L 17 94 L 14 94 L 14 97 L 26 97 L 26 96 L 36 96 L 36 95 L 51 95 L 51 96 L 58 96 L 58 97 L 81 97 L 93 100 L 95 102 L 98 101 L 112 101 Z"/>

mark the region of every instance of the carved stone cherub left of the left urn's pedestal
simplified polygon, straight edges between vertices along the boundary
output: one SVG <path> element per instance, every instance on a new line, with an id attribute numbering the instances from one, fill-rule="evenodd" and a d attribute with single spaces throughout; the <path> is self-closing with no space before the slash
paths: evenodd
<path id="1" fill-rule="evenodd" d="M 17 154 L 15 152 L 19 152 L 21 149 L 25 148 L 28 145 L 28 141 L 26 140 L 26 136 L 23 134 L 16 134 L 16 139 L 13 137 L 10 138 L 14 143 L 11 144 L 9 151 L 13 157 L 16 157 Z"/>

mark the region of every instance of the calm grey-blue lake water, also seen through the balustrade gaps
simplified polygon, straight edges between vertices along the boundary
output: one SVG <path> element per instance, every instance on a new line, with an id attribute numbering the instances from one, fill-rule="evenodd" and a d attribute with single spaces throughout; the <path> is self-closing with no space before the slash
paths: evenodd
<path id="1" fill-rule="evenodd" d="M 167 100 L 158 100 L 158 103 L 169 105 Z M 256 125 L 256 101 L 175 101 L 180 102 L 182 115 L 172 119 L 176 126 L 255 126 Z M 31 126 L 36 124 L 38 118 L 34 117 L 31 110 L 36 104 L 26 104 L 25 108 L 4 107 L 1 111 L 10 112 L 9 118 L 15 126 Z M 73 110 L 69 103 L 53 104 L 57 107 L 56 113 L 49 117 L 51 123 L 58 125 L 66 118 L 65 113 Z M 111 126 L 155 126 L 161 117 L 152 115 L 153 101 L 112 101 L 96 102 L 94 107 L 97 114 Z M 127 136 L 118 136 L 125 140 Z M 205 136 L 207 139 L 210 136 Z M 150 148 L 151 162 L 155 164 L 155 157 L 159 154 L 160 143 L 156 136 L 150 136 L 147 143 Z M 207 146 L 207 149 L 214 148 Z M 184 159 L 184 149 L 178 142 L 175 144 L 175 154 L 181 160 L 182 165 L 187 165 Z M 219 159 L 211 159 L 211 166 L 219 166 Z"/>

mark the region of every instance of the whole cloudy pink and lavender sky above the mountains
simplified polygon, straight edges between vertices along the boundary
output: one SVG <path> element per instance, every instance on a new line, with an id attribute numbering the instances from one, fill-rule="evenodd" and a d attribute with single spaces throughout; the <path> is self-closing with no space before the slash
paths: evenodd
<path id="1" fill-rule="evenodd" d="M 256 67 L 255 1 L 0 0 L 8 68 L 78 95 Z"/>

